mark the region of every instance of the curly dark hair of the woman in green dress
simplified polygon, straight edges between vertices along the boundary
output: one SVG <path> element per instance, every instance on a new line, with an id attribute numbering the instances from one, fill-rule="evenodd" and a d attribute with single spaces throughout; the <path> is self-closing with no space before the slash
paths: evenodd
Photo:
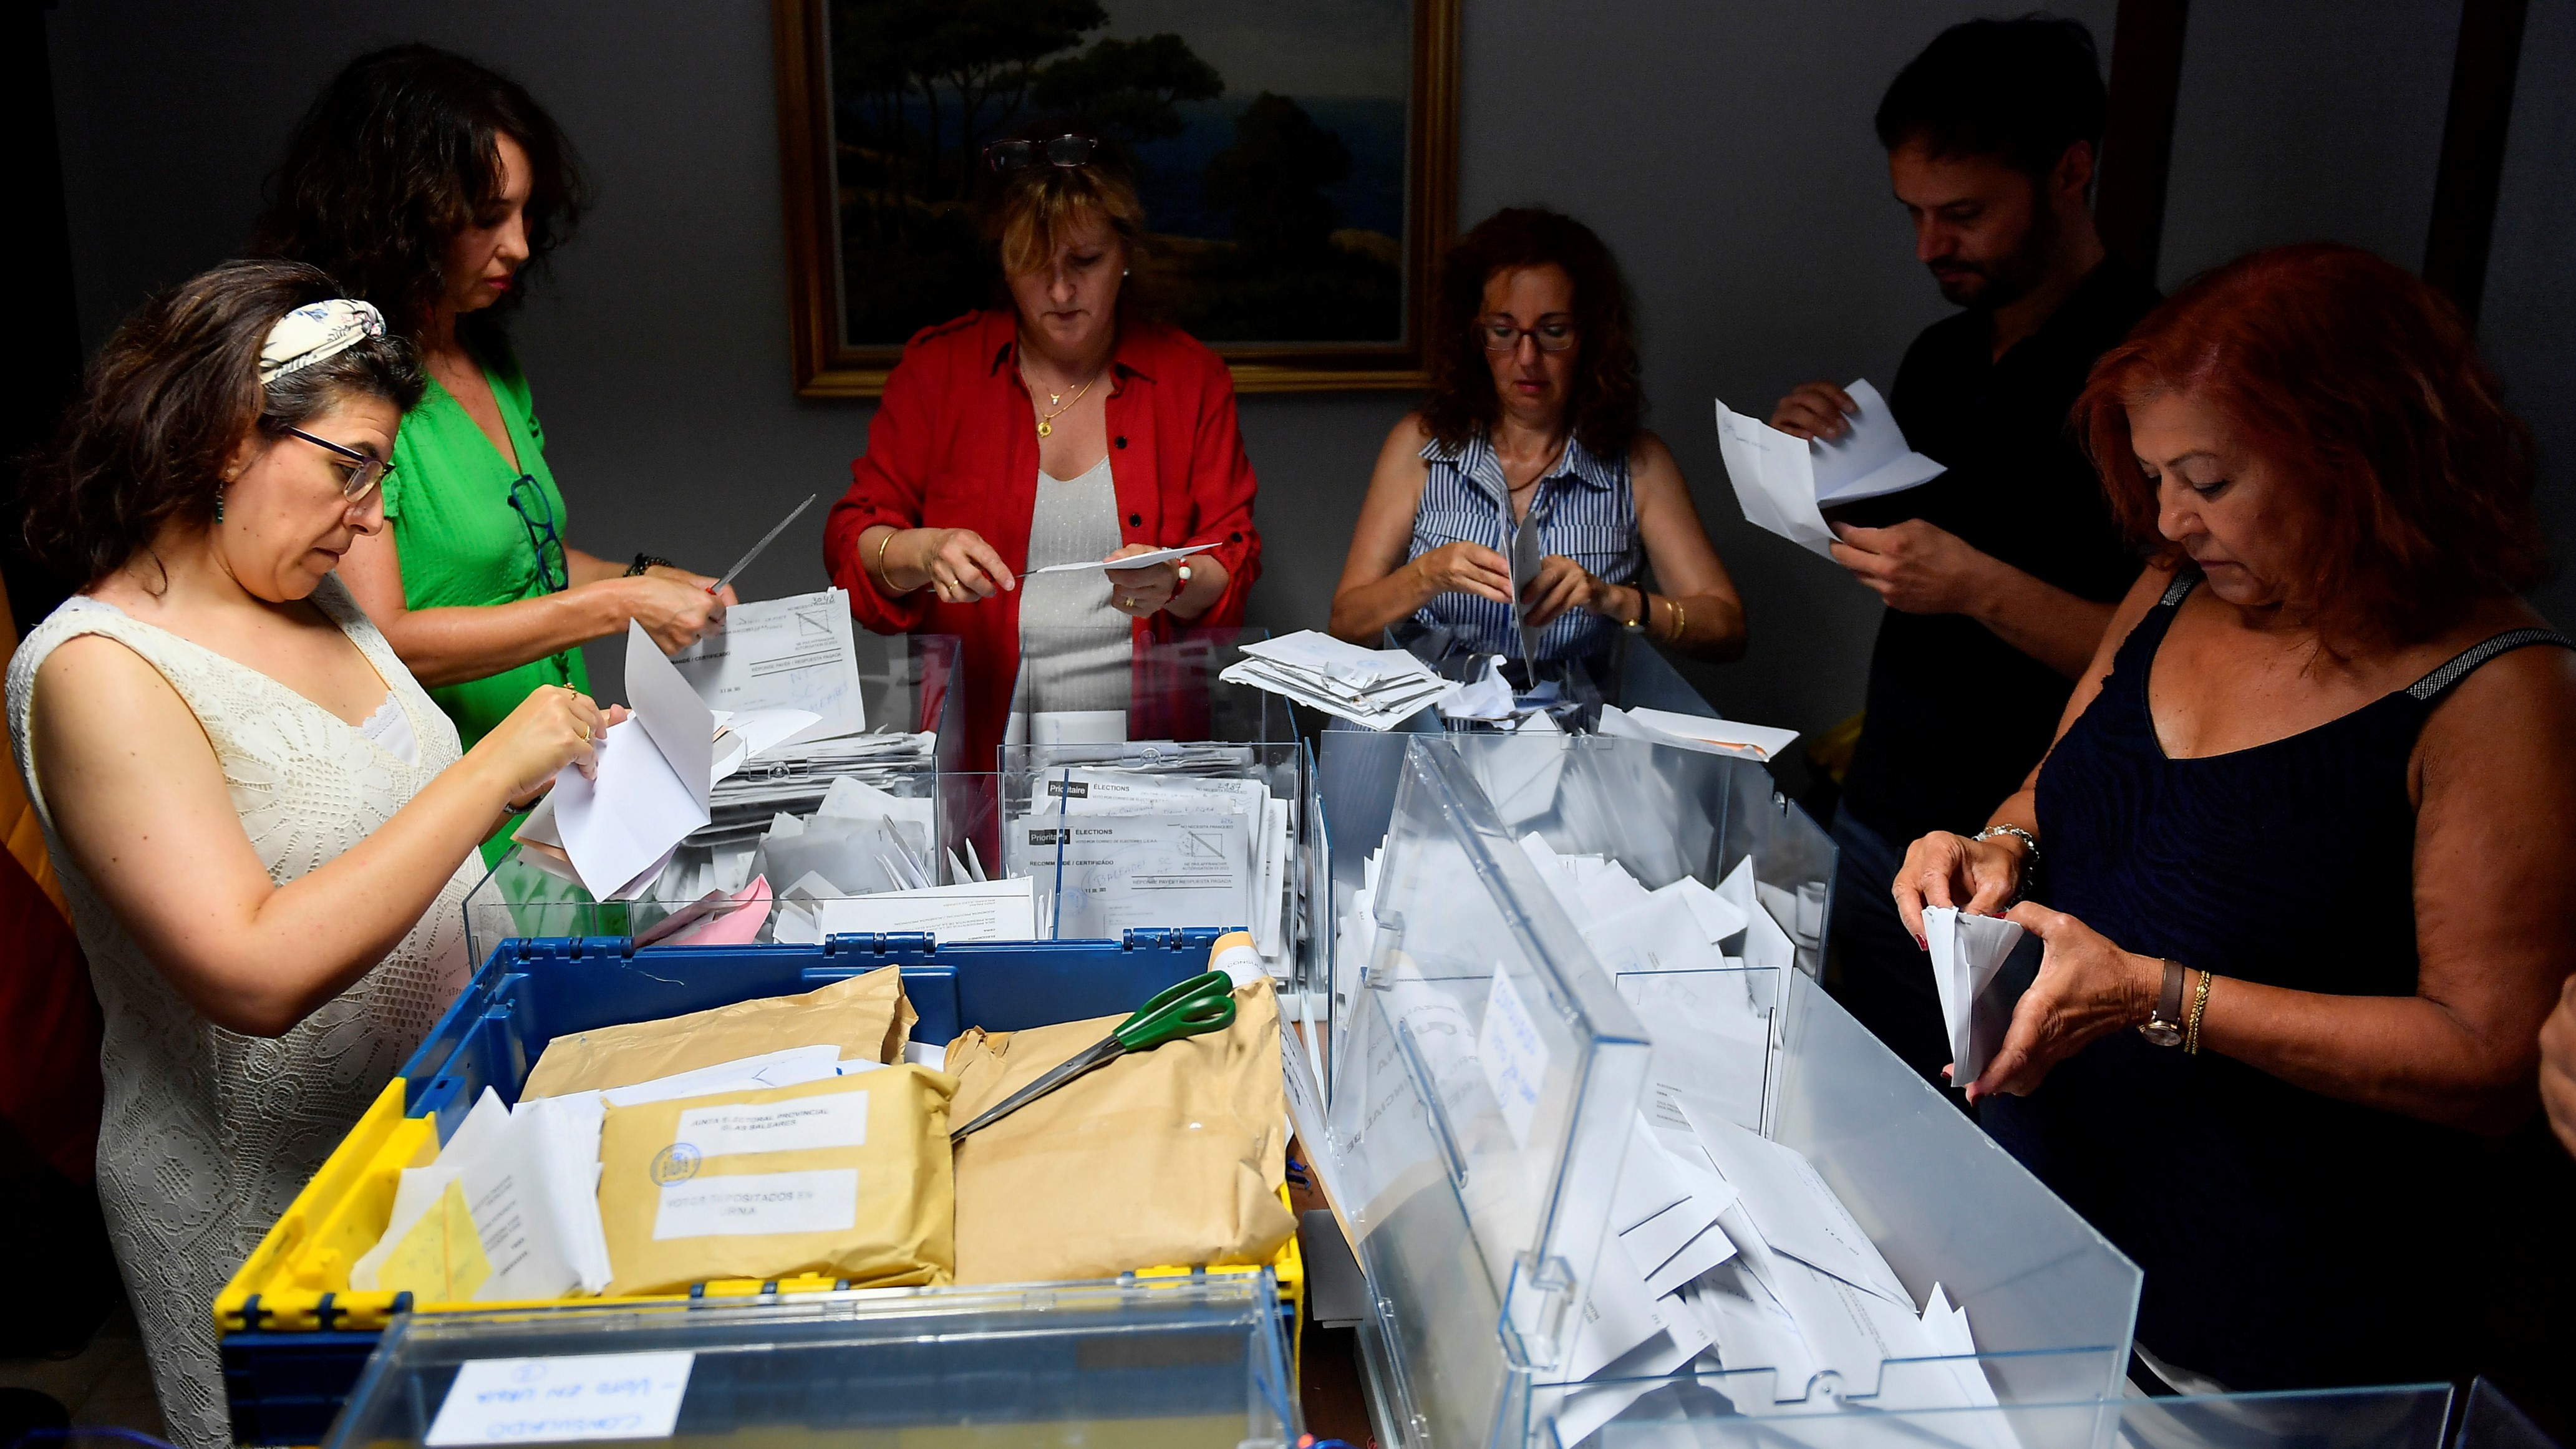
<path id="1" fill-rule="evenodd" d="M 268 178 L 250 250 L 319 266 L 417 333 L 448 291 L 448 237 L 500 199 L 500 137 L 528 152 L 520 276 L 533 281 L 587 204 L 572 142 L 515 80 L 422 44 L 363 54 L 322 88 Z M 500 353 L 520 294 L 459 317 L 466 345 Z"/>

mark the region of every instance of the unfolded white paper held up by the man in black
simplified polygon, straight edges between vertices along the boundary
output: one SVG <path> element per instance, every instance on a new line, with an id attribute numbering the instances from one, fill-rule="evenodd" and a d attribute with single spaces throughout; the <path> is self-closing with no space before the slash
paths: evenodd
<path id="1" fill-rule="evenodd" d="M 1824 511 L 1932 482 L 1942 464 L 1911 451 L 1888 402 L 1868 382 L 1844 392 L 1860 405 L 1850 433 L 1821 441 L 1795 438 L 1718 402 L 1718 454 L 1736 485 L 1744 521 L 1793 544 L 1834 557 L 1834 531 Z"/>

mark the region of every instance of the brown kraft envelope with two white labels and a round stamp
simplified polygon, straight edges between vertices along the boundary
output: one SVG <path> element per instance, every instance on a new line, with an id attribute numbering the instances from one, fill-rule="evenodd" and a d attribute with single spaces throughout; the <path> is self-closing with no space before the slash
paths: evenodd
<path id="1" fill-rule="evenodd" d="M 611 1106 L 600 1127 L 608 1294 L 791 1274 L 850 1287 L 951 1281 L 951 1091 L 945 1073 L 886 1067 Z"/>

